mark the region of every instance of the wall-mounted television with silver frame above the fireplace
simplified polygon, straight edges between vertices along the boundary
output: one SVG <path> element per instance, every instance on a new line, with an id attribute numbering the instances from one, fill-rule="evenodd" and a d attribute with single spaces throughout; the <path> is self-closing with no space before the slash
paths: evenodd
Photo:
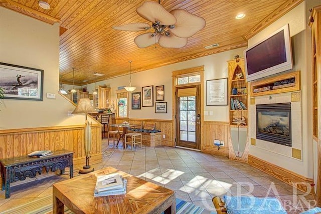
<path id="1" fill-rule="evenodd" d="M 289 25 L 244 51 L 247 81 L 292 69 L 291 39 Z"/>

